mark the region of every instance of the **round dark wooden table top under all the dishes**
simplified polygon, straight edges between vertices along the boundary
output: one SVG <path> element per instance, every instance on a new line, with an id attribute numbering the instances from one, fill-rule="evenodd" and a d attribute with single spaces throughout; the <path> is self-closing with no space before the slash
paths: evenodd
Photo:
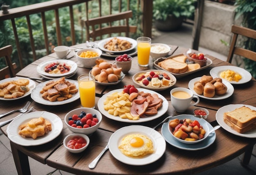
<path id="1" fill-rule="evenodd" d="M 79 46 L 79 45 L 78 45 Z M 181 53 L 185 53 L 188 49 L 183 47 L 177 47 L 175 45 L 170 45 L 172 47 L 172 55 L 177 55 Z M 222 65 L 230 65 L 227 62 L 221 61 L 218 58 L 214 58 L 213 56 L 207 55 L 213 61 L 213 64 L 205 70 L 201 70 L 199 72 L 195 72 L 190 74 L 186 77 L 177 79 L 177 83 L 172 87 L 184 87 L 188 88 L 188 83 L 191 79 L 196 77 L 200 77 L 202 75 L 210 75 L 209 71 L 213 67 L 222 66 Z M 70 52 L 67 56 L 72 61 L 78 63 L 77 59 L 75 58 L 74 54 Z M 23 70 L 18 72 L 16 76 L 23 76 L 23 77 L 40 77 L 40 75 L 36 72 L 36 67 L 40 63 L 46 60 L 56 59 L 55 54 L 50 54 L 49 56 L 45 56 L 43 58 L 38 59 L 37 61 L 31 63 Z M 106 61 L 113 63 L 115 61 L 114 58 L 107 58 L 104 57 Z M 81 74 L 88 73 L 90 69 L 83 68 L 78 63 L 78 72 L 69 79 L 77 80 L 77 77 Z M 148 69 L 155 69 L 153 67 L 153 61 L 150 58 L 150 65 L 149 67 L 143 68 L 139 67 L 137 64 L 137 56 L 133 57 L 132 61 L 132 68 L 126 74 L 125 78 L 121 83 L 112 86 L 103 86 L 103 85 L 96 85 L 96 109 L 98 109 L 97 102 L 103 94 L 110 92 L 111 90 L 121 89 L 124 85 L 134 84 L 132 81 L 132 76 L 143 70 Z M 43 80 L 46 81 L 46 80 Z M 38 82 L 36 82 L 38 84 Z M 240 85 L 233 85 L 234 86 L 234 93 L 227 99 L 223 100 L 208 100 L 200 98 L 200 102 L 198 103 L 198 107 L 207 108 L 209 110 L 209 117 L 206 119 L 212 126 L 217 125 L 216 122 L 216 112 L 219 108 L 224 105 L 228 104 L 245 104 L 245 105 L 252 105 L 255 106 L 256 104 L 256 81 L 252 79 L 248 83 L 240 84 Z M 137 87 L 139 88 L 139 87 Z M 13 109 L 19 109 L 22 107 L 26 101 L 31 101 L 31 106 L 34 106 L 35 111 L 48 111 L 54 114 L 57 114 L 63 121 L 63 131 L 61 134 L 50 141 L 47 144 L 43 144 L 40 146 L 20 146 L 11 142 L 12 149 L 17 149 L 24 155 L 32 157 L 37 161 L 52 166 L 54 168 L 61 169 L 63 171 L 67 171 L 74 174 L 84 174 L 84 173 L 103 173 L 103 174 L 165 174 L 165 173 L 172 173 L 172 174 L 180 174 L 180 173 L 198 173 L 201 171 L 205 171 L 209 168 L 213 168 L 229 160 L 237 157 L 238 155 L 244 153 L 252 143 L 255 143 L 256 139 L 249 139 L 245 137 L 239 137 L 233 135 L 223 128 L 216 130 L 216 140 L 214 143 L 209 146 L 208 148 L 204 148 L 202 150 L 182 150 L 171 146 L 170 144 L 166 143 L 166 151 L 164 155 L 158 159 L 156 162 L 144 165 L 144 166 L 132 166 L 127 165 L 122 162 L 119 162 L 115 159 L 110 151 L 107 151 L 101 160 L 99 161 L 98 165 L 94 169 L 88 168 L 88 164 L 92 162 L 92 160 L 99 155 L 99 153 L 105 148 L 108 144 L 108 139 L 112 135 L 113 132 L 122 128 L 124 126 L 130 126 L 133 124 L 139 124 L 148 127 L 154 127 L 156 123 L 163 121 L 168 116 L 175 116 L 180 113 L 175 112 L 174 108 L 171 105 L 170 99 L 170 90 L 164 90 L 158 92 L 162 94 L 168 101 L 169 107 L 167 112 L 153 120 L 144 123 L 124 123 L 119 121 L 114 121 L 103 116 L 103 120 L 101 122 L 100 128 L 90 136 L 90 145 L 88 148 L 79 154 L 74 154 L 68 152 L 63 146 L 63 139 L 66 135 L 71 134 L 72 132 L 67 128 L 63 119 L 65 114 L 70 110 L 75 108 L 80 108 L 81 103 L 80 99 L 64 104 L 59 106 L 49 106 L 49 105 L 42 105 L 36 103 L 31 99 L 30 96 L 25 98 L 14 100 L 14 101 L 0 101 L 1 112 L 8 112 Z M 195 107 L 189 108 L 186 114 L 193 114 L 192 111 Z M 16 116 L 17 113 L 11 114 L 7 117 L 0 119 L 0 121 L 5 121 L 7 119 L 11 119 L 12 117 Z M 1 130 L 6 133 L 6 128 L 8 125 L 5 125 L 1 128 Z M 157 131 L 161 133 L 161 126 L 157 128 Z M 15 151 L 14 151 L 15 153 Z M 13 156 L 16 158 L 15 156 Z M 22 161 L 16 160 L 16 165 L 21 163 Z M 24 169 L 24 168 L 23 168 Z M 17 168 L 18 170 L 18 168 Z M 18 170 L 19 174 L 22 174 Z M 24 171 L 23 171 L 24 172 Z"/>

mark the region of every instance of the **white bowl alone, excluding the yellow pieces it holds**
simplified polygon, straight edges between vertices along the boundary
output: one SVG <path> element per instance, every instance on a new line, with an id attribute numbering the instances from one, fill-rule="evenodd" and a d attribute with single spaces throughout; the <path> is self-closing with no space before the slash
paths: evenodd
<path id="1" fill-rule="evenodd" d="M 83 57 L 79 56 L 82 52 L 86 52 L 86 51 L 97 52 L 99 54 L 99 56 L 92 57 L 92 58 L 83 58 Z M 102 52 L 100 49 L 86 48 L 86 49 L 81 49 L 81 50 L 77 51 L 76 58 L 78 59 L 80 64 L 83 65 L 83 67 L 92 68 L 94 65 L 96 65 L 95 61 L 100 58 L 101 54 L 102 54 Z"/>

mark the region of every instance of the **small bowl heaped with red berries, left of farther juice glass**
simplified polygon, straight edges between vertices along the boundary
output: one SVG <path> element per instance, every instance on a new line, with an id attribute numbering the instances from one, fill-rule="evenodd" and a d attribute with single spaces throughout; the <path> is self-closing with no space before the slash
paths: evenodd
<path id="1" fill-rule="evenodd" d="M 115 65 L 122 68 L 122 72 L 127 73 L 132 67 L 132 57 L 127 54 L 119 55 L 115 58 Z"/>

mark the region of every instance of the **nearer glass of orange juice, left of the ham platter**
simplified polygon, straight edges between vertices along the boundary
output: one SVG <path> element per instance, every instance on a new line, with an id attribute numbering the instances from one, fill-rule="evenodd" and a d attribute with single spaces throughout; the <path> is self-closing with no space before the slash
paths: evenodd
<path id="1" fill-rule="evenodd" d="M 95 108 L 95 77 L 83 74 L 78 77 L 78 88 L 83 108 Z"/>

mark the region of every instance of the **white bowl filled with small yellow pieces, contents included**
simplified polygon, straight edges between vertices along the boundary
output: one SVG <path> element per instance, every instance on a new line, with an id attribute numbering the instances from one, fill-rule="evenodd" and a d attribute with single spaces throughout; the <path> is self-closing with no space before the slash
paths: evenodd
<path id="1" fill-rule="evenodd" d="M 102 52 L 96 48 L 81 49 L 76 52 L 76 58 L 81 65 L 85 68 L 92 68 L 96 63 L 95 61 L 100 58 Z"/>

